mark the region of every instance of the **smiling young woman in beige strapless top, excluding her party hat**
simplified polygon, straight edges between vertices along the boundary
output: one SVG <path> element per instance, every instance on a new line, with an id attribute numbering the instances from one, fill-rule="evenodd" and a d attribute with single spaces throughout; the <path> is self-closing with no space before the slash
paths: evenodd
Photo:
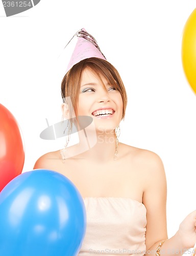
<path id="1" fill-rule="evenodd" d="M 64 117 L 91 117 L 88 132 L 79 133 L 77 145 L 41 156 L 34 168 L 56 170 L 79 189 L 87 212 L 79 255 L 183 254 L 196 242 L 196 210 L 167 239 L 163 163 L 151 151 L 118 142 L 126 90 L 105 57 L 91 55 L 74 62 L 61 87 L 71 101 L 62 104 Z"/>

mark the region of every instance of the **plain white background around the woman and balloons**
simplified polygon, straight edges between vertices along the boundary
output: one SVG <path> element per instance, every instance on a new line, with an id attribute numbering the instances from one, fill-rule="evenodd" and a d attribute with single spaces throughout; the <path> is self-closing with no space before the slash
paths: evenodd
<path id="1" fill-rule="evenodd" d="M 0 102 L 23 134 L 23 172 L 32 170 L 44 153 L 64 145 L 39 134 L 46 128 L 45 118 L 50 124 L 61 121 L 60 82 L 68 60 L 65 54 L 65 62 L 59 62 L 58 56 L 85 28 L 127 89 L 119 140 L 156 152 L 164 163 L 168 237 L 173 236 L 196 209 L 196 97 L 181 61 L 183 27 L 195 8 L 195 0 L 41 0 L 6 17 L 1 6 Z"/>

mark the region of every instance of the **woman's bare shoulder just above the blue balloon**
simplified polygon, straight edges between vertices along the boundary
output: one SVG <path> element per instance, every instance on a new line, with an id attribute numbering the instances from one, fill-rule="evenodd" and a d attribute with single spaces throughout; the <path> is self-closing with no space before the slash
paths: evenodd
<path id="1" fill-rule="evenodd" d="M 61 154 L 59 150 L 48 152 L 37 159 L 33 168 L 56 170 L 59 160 L 61 160 Z"/>

